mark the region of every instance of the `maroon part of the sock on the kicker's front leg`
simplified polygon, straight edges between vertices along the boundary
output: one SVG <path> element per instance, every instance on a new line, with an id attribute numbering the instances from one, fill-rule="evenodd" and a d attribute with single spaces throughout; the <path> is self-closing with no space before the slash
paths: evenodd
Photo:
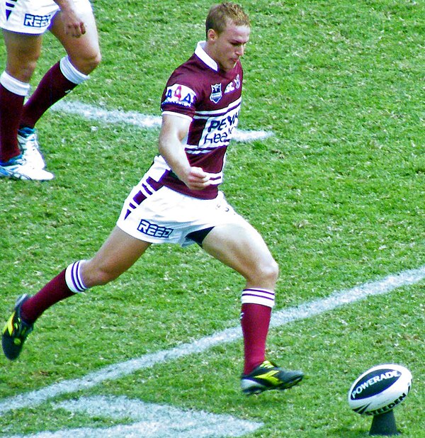
<path id="1" fill-rule="evenodd" d="M 265 359 L 271 308 L 261 304 L 245 303 L 242 305 L 241 315 L 245 352 L 244 374 L 249 374 Z"/>

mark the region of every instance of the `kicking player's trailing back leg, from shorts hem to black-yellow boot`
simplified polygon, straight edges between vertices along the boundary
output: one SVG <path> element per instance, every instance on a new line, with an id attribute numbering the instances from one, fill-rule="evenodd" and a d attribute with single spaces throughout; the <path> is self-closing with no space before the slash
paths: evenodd
<path id="1" fill-rule="evenodd" d="M 116 279 L 139 259 L 149 245 L 115 228 L 93 259 L 70 264 L 34 296 L 20 296 L 3 329 L 5 356 L 11 360 L 18 358 L 23 343 L 33 331 L 35 320 L 47 308 L 76 293 Z"/>

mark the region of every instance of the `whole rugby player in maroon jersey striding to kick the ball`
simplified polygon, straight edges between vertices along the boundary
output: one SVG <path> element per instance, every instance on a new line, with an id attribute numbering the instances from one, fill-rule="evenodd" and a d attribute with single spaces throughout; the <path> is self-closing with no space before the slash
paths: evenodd
<path id="1" fill-rule="evenodd" d="M 243 393 L 283 390 L 301 381 L 301 371 L 287 371 L 265 357 L 278 265 L 259 232 L 219 189 L 241 108 L 240 58 L 249 40 L 249 18 L 237 4 L 217 4 L 208 13 L 205 32 L 206 41 L 165 86 L 159 155 L 152 167 L 130 192 L 93 258 L 69 264 L 34 296 L 18 298 L 2 337 L 8 359 L 18 357 L 35 320 L 52 304 L 116 279 L 150 245 L 196 243 L 246 281 Z"/>

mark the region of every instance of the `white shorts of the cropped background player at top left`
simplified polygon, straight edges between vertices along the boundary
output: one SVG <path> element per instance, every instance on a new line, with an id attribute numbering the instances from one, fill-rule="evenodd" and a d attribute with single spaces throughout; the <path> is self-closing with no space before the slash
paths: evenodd
<path id="1" fill-rule="evenodd" d="M 91 11 L 89 0 L 74 0 L 80 13 Z M 59 6 L 53 0 L 0 0 L 0 28 L 40 35 L 49 28 Z"/>

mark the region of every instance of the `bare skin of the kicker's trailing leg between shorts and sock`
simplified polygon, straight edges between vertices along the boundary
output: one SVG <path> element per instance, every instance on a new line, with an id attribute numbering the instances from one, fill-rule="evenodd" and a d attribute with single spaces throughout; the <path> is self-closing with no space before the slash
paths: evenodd
<path id="1" fill-rule="evenodd" d="M 151 244 L 115 227 L 96 255 L 84 264 L 86 286 L 108 283 L 130 269 Z"/>

